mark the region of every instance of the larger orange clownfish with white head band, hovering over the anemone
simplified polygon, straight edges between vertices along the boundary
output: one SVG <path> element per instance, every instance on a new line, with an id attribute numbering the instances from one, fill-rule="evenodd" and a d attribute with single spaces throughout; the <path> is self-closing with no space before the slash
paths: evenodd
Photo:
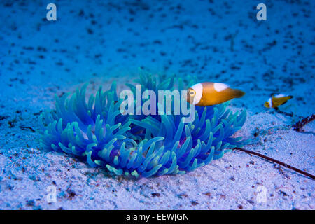
<path id="1" fill-rule="evenodd" d="M 188 88 L 186 100 L 196 106 L 212 106 L 242 97 L 244 94 L 245 92 L 231 89 L 224 83 L 206 82 Z"/>

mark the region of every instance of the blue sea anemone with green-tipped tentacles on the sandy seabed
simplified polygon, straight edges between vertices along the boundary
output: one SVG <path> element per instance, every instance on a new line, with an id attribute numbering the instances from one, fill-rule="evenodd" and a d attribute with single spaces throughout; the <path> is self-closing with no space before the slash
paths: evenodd
<path id="1" fill-rule="evenodd" d="M 158 90 L 174 90 L 174 80 L 142 75 L 137 83 L 158 94 Z M 176 80 L 177 89 L 183 90 L 183 81 Z M 134 85 L 127 86 L 136 91 Z M 88 101 L 86 88 L 56 97 L 55 110 L 41 114 L 42 148 L 82 158 L 91 167 L 139 178 L 184 174 L 246 144 L 241 137 L 232 137 L 244 124 L 246 111 L 232 113 L 228 103 L 196 106 L 195 120 L 184 123 L 181 114 L 123 115 L 116 83 L 107 91 L 100 87 Z"/>

